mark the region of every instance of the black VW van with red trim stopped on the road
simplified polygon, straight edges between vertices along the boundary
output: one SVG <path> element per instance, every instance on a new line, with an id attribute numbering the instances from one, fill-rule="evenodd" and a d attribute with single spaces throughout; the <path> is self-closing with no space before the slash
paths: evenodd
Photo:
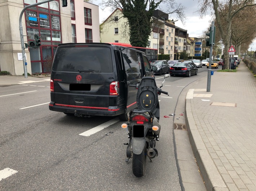
<path id="1" fill-rule="evenodd" d="M 137 107 L 134 87 L 154 76 L 144 52 L 109 43 L 65 43 L 56 50 L 49 109 L 75 116 L 119 116 Z"/>

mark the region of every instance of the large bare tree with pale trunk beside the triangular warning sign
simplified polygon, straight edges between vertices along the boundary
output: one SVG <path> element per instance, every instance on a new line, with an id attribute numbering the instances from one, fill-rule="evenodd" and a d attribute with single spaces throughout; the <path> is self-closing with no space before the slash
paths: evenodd
<path id="1" fill-rule="evenodd" d="M 202 5 L 200 7 L 201 17 L 206 15 L 207 9 L 213 9 L 216 19 L 216 25 L 219 28 L 221 38 L 223 39 L 223 44 L 225 47 L 224 58 L 225 65 L 224 68 L 229 68 L 229 54 L 228 50 L 231 45 L 231 24 L 232 19 L 237 15 L 241 10 L 248 6 L 255 6 L 255 2 L 252 0 L 199 0 L 199 3 Z M 226 10 L 226 11 L 225 11 Z M 224 27 L 221 22 L 223 18 L 226 22 Z"/>

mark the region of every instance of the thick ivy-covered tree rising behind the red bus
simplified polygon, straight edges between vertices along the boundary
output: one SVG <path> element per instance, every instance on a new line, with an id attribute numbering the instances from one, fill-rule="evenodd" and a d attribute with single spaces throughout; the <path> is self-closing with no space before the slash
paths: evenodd
<path id="1" fill-rule="evenodd" d="M 177 17 L 185 22 L 183 12 L 185 7 L 181 4 L 176 4 L 175 0 L 102 0 L 101 5 L 110 7 L 111 10 L 120 8 L 123 17 L 128 20 L 129 41 L 131 45 L 147 47 L 152 31 L 152 15 L 161 3 L 168 3 L 169 10 L 174 9 L 171 13 L 177 13 Z"/>

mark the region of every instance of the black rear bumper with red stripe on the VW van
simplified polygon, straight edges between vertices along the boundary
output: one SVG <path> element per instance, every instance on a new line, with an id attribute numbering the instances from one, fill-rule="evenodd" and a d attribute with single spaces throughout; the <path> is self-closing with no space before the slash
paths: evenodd
<path id="1" fill-rule="evenodd" d="M 50 102 L 49 110 L 63 113 L 76 113 L 87 116 L 117 116 L 125 112 L 125 106 L 109 106 L 108 108 L 79 107 Z"/>

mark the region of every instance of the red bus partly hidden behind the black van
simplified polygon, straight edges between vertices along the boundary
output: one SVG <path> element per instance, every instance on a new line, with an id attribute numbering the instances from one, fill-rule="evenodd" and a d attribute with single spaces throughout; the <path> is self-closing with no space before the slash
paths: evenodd
<path id="1" fill-rule="evenodd" d="M 132 45 L 127 44 L 127 43 L 120 43 L 120 42 L 110 42 L 110 44 L 111 45 L 119 45 L 119 46 L 130 47 L 130 48 L 134 48 L 136 50 L 145 52 L 145 54 L 147 55 L 147 59 L 149 59 L 150 62 L 154 61 L 154 60 L 157 60 L 157 53 L 158 53 L 157 49 L 136 47 L 136 46 L 132 46 Z"/>

